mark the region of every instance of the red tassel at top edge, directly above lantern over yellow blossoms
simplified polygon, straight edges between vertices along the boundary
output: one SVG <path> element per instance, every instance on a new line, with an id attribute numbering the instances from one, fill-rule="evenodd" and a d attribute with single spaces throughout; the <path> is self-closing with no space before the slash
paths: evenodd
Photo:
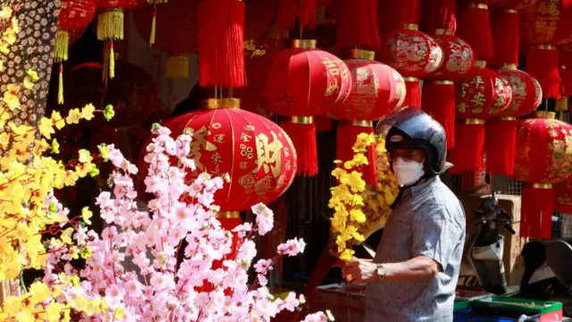
<path id="1" fill-rule="evenodd" d="M 339 0 L 336 4 L 338 46 L 379 49 L 376 0 Z"/>

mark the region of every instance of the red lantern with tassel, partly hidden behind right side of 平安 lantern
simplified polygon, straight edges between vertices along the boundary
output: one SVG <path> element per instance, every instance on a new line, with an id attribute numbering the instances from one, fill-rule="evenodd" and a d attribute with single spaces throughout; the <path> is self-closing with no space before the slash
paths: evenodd
<path id="1" fill-rule="evenodd" d="M 510 175 L 514 170 L 517 118 L 531 114 L 543 99 L 543 89 L 534 77 L 514 67 L 499 71 L 512 87 L 512 101 L 486 122 L 486 165 L 489 174 Z"/>

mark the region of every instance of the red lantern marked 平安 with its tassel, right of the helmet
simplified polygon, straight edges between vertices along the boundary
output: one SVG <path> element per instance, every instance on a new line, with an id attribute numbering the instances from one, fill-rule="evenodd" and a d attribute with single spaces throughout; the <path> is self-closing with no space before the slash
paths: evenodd
<path id="1" fill-rule="evenodd" d="M 483 167 L 484 121 L 507 108 L 512 88 L 499 72 L 477 67 L 457 83 L 457 117 L 455 148 L 450 162 L 455 173 L 480 172 Z"/>

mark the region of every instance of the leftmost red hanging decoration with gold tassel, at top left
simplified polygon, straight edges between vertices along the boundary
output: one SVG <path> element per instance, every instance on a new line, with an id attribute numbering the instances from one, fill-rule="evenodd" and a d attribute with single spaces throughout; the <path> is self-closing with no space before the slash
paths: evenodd
<path id="1" fill-rule="evenodd" d="M 58 69 L 58 104 L 63 104 L 63 62 L 68 60 L 72 34 L 83 33 L 96 14 L 96 0 L 63 0 L 55 33 L 54 62 Z"/>

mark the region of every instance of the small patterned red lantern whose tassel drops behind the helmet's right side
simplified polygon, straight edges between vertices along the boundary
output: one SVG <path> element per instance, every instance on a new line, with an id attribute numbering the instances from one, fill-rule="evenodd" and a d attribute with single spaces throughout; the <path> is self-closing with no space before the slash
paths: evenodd
<path id="1" fill-rule="evenodd" d="M 473 49 L 460 38 L 443 34 L 433 38 L 443 51 L 441 67 L 428 76 L 423 84 L 422 107 L 427 114 L 442 124 L 447 134 L 447 147 L 455 147 L 455 84 L 473 69 Z"/>

